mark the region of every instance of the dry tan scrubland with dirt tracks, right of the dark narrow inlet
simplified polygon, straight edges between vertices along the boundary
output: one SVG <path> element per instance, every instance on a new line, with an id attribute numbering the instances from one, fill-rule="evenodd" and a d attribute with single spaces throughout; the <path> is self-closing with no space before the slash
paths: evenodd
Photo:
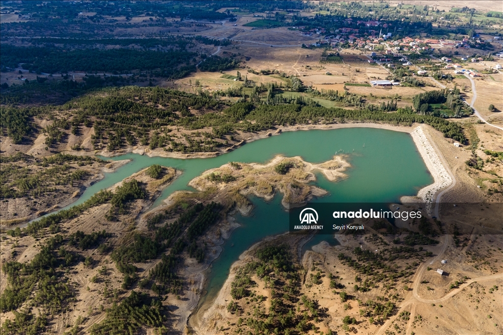
<path id="1" fill-rule="evenodd" d="M 371 226 L 366 222 L 366 227 Z M 412 227 L 412 226 L 409 226 Z M 501 272 L 501 249 L 495 245 L 501 244 L 501 236 L 481 237 L 476 234 L 462 236 L 468 240 L 467 246 L 455 248 L 449 246 L 442 255 L 443 246 L 448 241 L 440 238 L 437 246 L 426 246 L 405 258 L 399 257 L 392 262 L 395 273 L 400 273 L 398 279 L 381 279 L 375 281 L 373 277 L 380 270 L 371 274 L 362 274 L 355 267 L 348 266 L 339 255 L 349 255 L 355 258 L 353 250 L 369 250 L 376 254 L 383 250 L 386 254 L 393 247 L 390 237 L 379 234 L 362 237 L 337 236 L 340 246 L 329 246 L 322 243 L 307 251 L 302 259 L 299 255 L 292 255 L 300 275 L 297 299 L 290 300 L 287 310 L 294 314 L 312 314 L 302 301 L 305 296 L 313 301 L 317 317 L 308 317 L 306 333 L 323 331 L 327 333 L 347 333 L 348 331 L 363 334 L 376 333 L 416 333 L 416 334 L 444 334 L 459 332 L 495 333 L 501 331 L 503 309 L 501 298 L 503 279 L 497 272 Z M 404 236 L 401 236 L 402 239 Z M 215 334 L 222 331 L 247 331 L 250 327 L 249 319 L 267 319 L 273 315 L 271 305 L 278 306 L 279 297 L 286 284 L 283 277 L 271 274 L 263 277 L 253 274 L 250 277 L 247 297 L 237 297 L 233 292 L 240 278 L 240 271 L 248 264 L 258 261 L 257 254 L 261 248 L 288 243 L 290 250 L 300 250 L 300 246 L 308 240 L 307 236 L 279 236 L 267 239 L 241 255 L 239 261 L 232 265 L 230 275 L 213 304 L 207 309 L 200 309 L 191 318 L 190 325 L 197 333 Z M 395 246 L 396 247 L 396 246 Z M 449 259 L 448 264 L 440 264 L 440 258 L 435 261 L 420 264 L 424 261 L 423 252 L 432 252 Z M 383 254 L 383 255 L 384 255 Z M 404 256 L 404 252 L 401 256 Z M 421 255 L 420 255 L 421 254 Z M 356 256 L 359 259 L 358 256 Z M 359 259 L 360 260 L 360 259 Z M 362 260 L 360 260 L 362 263 Z M 481 265 L 482 263 L 482 265 Z M 363 265 L 369 263 L 363 262 Z M 427 267 L 428 265 L 428 267 Z M 435 270 L 441 267 L 448 272 L 447 276 L 440 276 Z M 258 272 L 257 272 L 258 273 Z M 279 278 L 278 278 L 279 277 Z M 385 276 L 386 277 L 386 276 Z M 366 291 L 356 290 L 370 285 Z M 290 285 L 290 284 L 288 284 Z M 287 286 L 288 286 L 287 285 Z M 279 291 L 279 294 L 278 294 Z M 341 292 L 345 292 L 343 297 Z M 285 301 L 285 300 L 284 300 Z M 237 303 L 234 305 L 234 303 Z M 377 304 L 376 304 L 377 303 Z M 391 306 L 392 315 L 379 321 L 378 308 L 373 311 L 370 306 Z M 231 305 L 232 308 L 228 306 Z M 280 304 L 281 306 L 281 304 Z M 257 314 L 258 313 L 258 314 Z M 286 311 L 285 311 L 286 313 Z M 481 317 L 483 315 L 483 317 Z M 349 322 L 345 326 L 344 318 L 355 318 L 356 322 Z M 490 317 L 489 317 L 490 316 Z M 382 315 L 381 315 L 382 317 Z"/>

